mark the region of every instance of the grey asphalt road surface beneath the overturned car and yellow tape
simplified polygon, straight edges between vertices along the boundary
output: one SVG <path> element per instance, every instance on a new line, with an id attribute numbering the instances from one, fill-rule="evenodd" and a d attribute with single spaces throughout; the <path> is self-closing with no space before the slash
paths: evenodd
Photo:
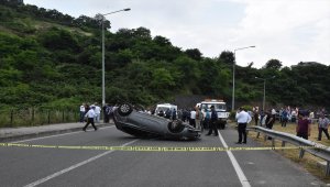
<path id="1" fill-rule="evenodd" d="M 199 141 L 141 140 L 114 127 L 20 143 L 86 146 L 237 145 L 233 129 Z M 324 186 L 273 151 L 124 152 L 0 146 L 0 186 Z"/>

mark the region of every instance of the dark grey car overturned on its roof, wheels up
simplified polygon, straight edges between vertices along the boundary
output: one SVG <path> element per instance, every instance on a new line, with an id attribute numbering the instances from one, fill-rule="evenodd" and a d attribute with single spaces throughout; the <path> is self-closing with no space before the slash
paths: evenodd
<path id="1" fill-rule="evenodd" d="M 200 131 L 182 121 L 136 111 L 132 105 L 122 103 L 113 113 L 118 130 L 138 138 L 160 138 L 169 140 L 197 140 Z"/>

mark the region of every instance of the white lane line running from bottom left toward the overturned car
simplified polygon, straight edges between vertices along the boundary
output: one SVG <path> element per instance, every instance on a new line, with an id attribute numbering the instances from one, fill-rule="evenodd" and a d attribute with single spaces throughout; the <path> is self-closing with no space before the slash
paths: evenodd
<path id="1" fill-rule="evenodd" d="M 134 140 L 134 141 L 128 142 L 128 143 L 122 144 L 122 145 L 120 145 L 120 146 L 127 146 L 127 145 L 130 145 L 130 144 L 132 144 L 132 143 L 134 143 L 134 142 L 136 142 L 136 141 L 139 141 L 139 140 Z M 36 182 L 33 182 L 33 183 L 31 183 L 31 184 L 29 184 L 29 185 L 25 185 L 24 187 L 34 187 L 34 186 L 41 185 L 41 184 L 43 184 L 43 183 L 45 183 L 45 182 L 47 182 L 47 180 L 50 180 L 50 179 L 52 179 L 52 178 L 58 177 L 58 176 L 61 176 L 61 175 L 63 175 L 63 174 L 65 174 L 65 173 L 68 173 L 68 172 L 70 172 L 70 170 L 75 169 L 75 168 L 78 168 L 78 167 L 80 167 L 80 166 L 82 166 L 82 165 L 86 165 L 86 164 L 88 164 L 88 163 L 90 163 L 90 162 L 94 162 L 94 161 L 96 161 L 96 160 L 98 160 L 98 158 L 100 158 L 100 157 L 102 157 L 102 156 L 106 156 L 107 154 L 110 154 L 110 153 L 112 153 L 112 152 L 114 152 L 114 151 L 111 150 L 111 151 L 105 152 L 105 153 L 102 153 L 102 154 L 96 155 L 96 156 L 94 156 L 94 157 L 91 157 L 91 158 L 88 158 L 88 160 L 86 160 L 86 161 L 82 161 L 82 162 L 80 162 L 80 163 L 78 163 L 78 164 L 75 164 L 75 165 L 73 165 L 73 166 L 70 166 L 70 167 L 67 167 L 67 168 L 65 168 L 65 169 L 63 169 L 63 170 L 56 172 L 56 173 L 54 173 L 54 174 L 52 174 L 52 175 L 48 175 L 48 176 L 46 176 L 46 177 L 44 177 L 44 178 L 41 178 L 41 179 L 38 179 L 38 180 L 36 180 Z"/>

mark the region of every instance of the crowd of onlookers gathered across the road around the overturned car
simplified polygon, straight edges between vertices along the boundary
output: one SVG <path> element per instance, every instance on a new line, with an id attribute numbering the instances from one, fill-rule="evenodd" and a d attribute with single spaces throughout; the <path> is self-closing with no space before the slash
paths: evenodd
<path id="1" fill-rule="evenodd" d="M 103 111 L 105 123 L 109 123 L 113 117 L 116 107 L 117 106 L 105 105 L 101 109 L 97 102 L 94 105 L 82 103 L 80 106 L 80 122 L 86 121 L 82 130 L 86 131 L 88 125 L 91 124 L 97 131 L 95 122 L 100 122 L 101 111 Z M 188 122 L 196 129 L 209 130 L 206 135 L 211 135 L 213 133 L 216 136 L 218 136 L 219 121 L 218 112 L 215 110 L 215 106 L 211 106 L 209 110 L 201 110 L 199 107 L 195 107 L 194 109 L 179 110 L 172 108 L 165 111 L 161 110 L 158 113 L 154 113 L 153 110 L 145 112 L 150 114 L 157 114 L 169 120 L 182 120 L 183 122 Z M 318 117 L 317 120 L 316 114 Z M 246 143 L 246 125 L 251 121 L 253 121 L 255 125 L 273 129 L 276 119 L 279 121 L 283 128 L 286 128 L 288 122 L 295 123 L 297 133 L 296 135 L 306 140 L 308 140 L 308 136 L 310 136 L 311 123 L 317 121 L 319 130 L 318 141 L 321 141 L 323 133 L 326 134 L 327 139 L 330 140 L 328 132 L 330 120 L 327 118 L 327 111 L 324 109 L 315 113 L 307 110 L 299 110 L 298 108 L 290 108 L 289 106 L 282 108 L 278 111 L 275 109 L 264 111 L 260 110 L 258 107 L 253 107 L 252 111 L 248 111 L 241 107 L 237 110 L 235 114 L 239 133 L 239 140 L 237 143 Z"/>

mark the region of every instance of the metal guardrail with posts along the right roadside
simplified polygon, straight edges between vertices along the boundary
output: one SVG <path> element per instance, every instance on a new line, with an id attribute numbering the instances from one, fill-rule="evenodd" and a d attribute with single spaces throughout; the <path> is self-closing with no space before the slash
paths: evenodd
<path id="1" fill-rule="evenodd" d="M 322 145 L 320 143 L 316 143 L 309 140 L 305 140 L 302 138 L 298 138 L 296 135 L 278 132 L 271 129 L 265 129 L 262 127 L 249 127 L 246 128 L 248 131 L 255 131 L 257 132 L 257 138 L 260 133 L 265 134 L 265 140 L 267 136 L 272 138 L 272 146 L 275 147 L 275 140 L 282 140 L 282 146 L 284 147 L 286 143 L 290 143 L 293 145 L 300 147 L 299 158 L 304 157 L 305 151 L 327 161 L 327 169 L 326 175 L 330 176 L 330 147 Z"/>

